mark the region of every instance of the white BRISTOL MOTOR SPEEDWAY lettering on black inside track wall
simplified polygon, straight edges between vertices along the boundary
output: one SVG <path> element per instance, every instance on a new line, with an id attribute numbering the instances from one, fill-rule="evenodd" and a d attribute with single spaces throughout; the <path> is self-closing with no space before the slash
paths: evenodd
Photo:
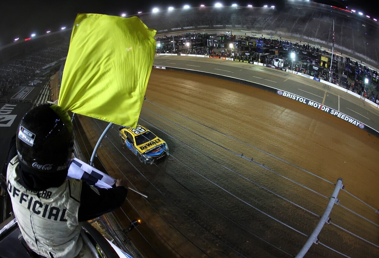
<path id="1" fill-rule="evenodd" d="M 361 123 L 360 121 L 358 121 L 352 117 L 349 117 L 348 115 L 345 115 L 344 113 L 338 112 L 337 110 L 334 110 L 330 107 L 323 106 L 320 103 L 317 103 L 317 102 L 312 101 L 310 99 L 306 99 L 306 98 L 303 98 L 301 96 L 298 96 L 298 95 L 295 95 L 295 94 L 292 94 L 289 92 L 285 92 L 283 90 L 277 90 L 277 93 L 279 95 L 282 95 L 283 97 L 294 99 L 296 101 L 299 101 L 301 103 L 307 104 L 307 105 L 312 106 L 312 107 L 315 107 L 317 109 L 321 109 L 321 110 L 329 113 L 330 115 L 335 115 L 336 117 L 339 117 L 339 118 L 341 118 L 341 119 L 343 119 L 343 120 L 345 120 L 351 124 L 354 124 L 355 126 L 359 126 L 359 128 L 361 128 L 361 129 L 365 128 L 365 124 Z"/>

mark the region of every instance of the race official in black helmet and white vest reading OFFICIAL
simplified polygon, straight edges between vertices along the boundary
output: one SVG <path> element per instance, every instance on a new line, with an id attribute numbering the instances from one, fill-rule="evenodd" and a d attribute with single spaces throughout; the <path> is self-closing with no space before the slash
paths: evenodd
<path id="1" fill-rule="evenodd" d="M 81 222 L 122 205 L 127 185 L 108 190 L 66 179 L 74 146 L 69 115 L 43 104 L 20 121 L 8 153 L 6 186 L 28 247 L 43 257 L 88 257 Z"/>

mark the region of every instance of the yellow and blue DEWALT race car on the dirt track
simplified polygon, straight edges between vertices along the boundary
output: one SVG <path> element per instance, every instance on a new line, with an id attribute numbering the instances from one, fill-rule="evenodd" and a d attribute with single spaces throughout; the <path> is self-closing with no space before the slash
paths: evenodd
<path id="1" fill-rule="evenodd" d="M 157 163 L 168 156 L 167 143 L 149 129 L 137 124 L 136 129 L 119 127 L 122 144 L 128 147 L 142 163 Z"/>

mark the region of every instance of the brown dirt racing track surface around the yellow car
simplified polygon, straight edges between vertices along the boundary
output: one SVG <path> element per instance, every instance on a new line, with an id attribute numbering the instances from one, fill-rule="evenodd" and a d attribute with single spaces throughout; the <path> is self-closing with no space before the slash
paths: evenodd
<path id="1" fill-rule="evenodd" d="M 94 146 L 107 123 L 79 118 L 87 135 L 78 141 Z M 98 155 L 111 176 L 148 195 L 130 191 L 117 211 L 125 228 L 142 219 L 129 236 L 144 255 L 296 255 L 339 177 L 345 190 L 307 256 L 379 255 L 379 139 L 359 127 L 254 87 L 158 69 L 139 123 L 168 143 L 164 162 L 140 163 L 118 126 Z"/>

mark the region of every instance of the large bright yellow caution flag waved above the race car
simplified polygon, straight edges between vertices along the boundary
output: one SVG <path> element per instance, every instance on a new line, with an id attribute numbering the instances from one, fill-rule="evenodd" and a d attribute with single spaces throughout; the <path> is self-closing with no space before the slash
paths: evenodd
<path id="1" fill-rule="evenodd" d="M 155 33 L 138 17 L 78 14 L 58 106 L 135 128 L 154 60 Z"/>

